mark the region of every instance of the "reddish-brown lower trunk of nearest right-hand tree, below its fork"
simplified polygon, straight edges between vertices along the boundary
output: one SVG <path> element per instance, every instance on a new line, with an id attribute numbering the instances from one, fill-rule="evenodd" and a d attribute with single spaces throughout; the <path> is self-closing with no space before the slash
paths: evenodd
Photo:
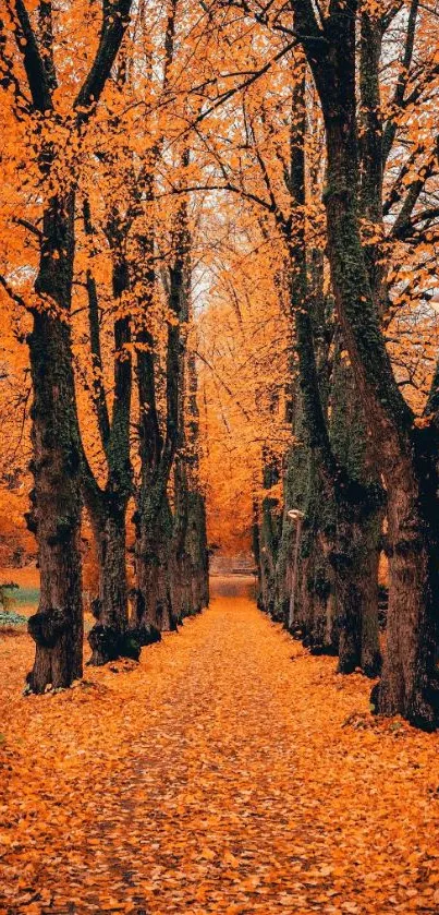
<path id="1" fill-rule="evenodd" d="M 426 730 L 439 722 L 438 443 L 431 444 L 412 457 L 420 479 L 406 461 L 389 490 L 387 650 L 371 697 L 377 712 L 401 713 Z"/>

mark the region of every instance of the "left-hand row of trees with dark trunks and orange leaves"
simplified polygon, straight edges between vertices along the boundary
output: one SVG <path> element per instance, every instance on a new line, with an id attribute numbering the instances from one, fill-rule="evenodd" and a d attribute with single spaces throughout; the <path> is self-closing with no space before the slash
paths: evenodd
<path id="1" fill-rule="evenodd" d="M 208 601 L 188 339 L 193 220 L 186 196 L 161 218 L 156 202 L 167 139 L 157 112 L 169 92 L 176 2 L 155 11 L 133 10 L 131 0 L 76 5 L 54 13 L 50 2 L 8 2 L 0 22 L 3 216 L 22 241 L 12 263 L 4 243 L 1 284 L 19 310 L 33 388 L 27 525 L 41 578 L 28 627 L 35 693 L 82 675 L 84 504 L 99 579 L 92 663 L 138 657 Z M 187 137 L 167 167 L 182 180 Z"/>

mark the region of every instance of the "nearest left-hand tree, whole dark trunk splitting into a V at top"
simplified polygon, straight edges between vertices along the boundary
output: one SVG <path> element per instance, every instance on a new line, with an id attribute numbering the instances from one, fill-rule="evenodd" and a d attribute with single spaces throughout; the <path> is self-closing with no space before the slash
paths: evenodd
<path id="1" fill-rule="evenodd" d="M 69 314 L 74 261 L 75 191 L 70 157 L 93 117 L 129 22 L 131 0 L 105 2 L 95 57 L 71 107 L 58 108 L 58 77 L 50 2 L 37 11 L 37 28 L 25 3 L 7 4 L 1 22 L 8 70 L 7 87 L 15 96 L 17 117 L 33 131 L 40 178 L 41 229 L 29 354 L 33 380 L 33 508 L 28 523 L 38 542 L 41 597 L 29 621 L 36 642 L 28 687 L 42 693 L 69 686 L 82 674 L 81 454 Z M 9 51 L 8 32 L 23 72 Z M 23 88 L 22 88 L 23 86 Z M 26 93 L 29 98 L 26 98 Z M 23 101 L 23 99 L 26 99 Z M 68 167 L 65 167 L 68 165 Z M 8 289 L 9 285 L 3 281 Z M 14 296 L 13 290 L 11 290 Z"/>

